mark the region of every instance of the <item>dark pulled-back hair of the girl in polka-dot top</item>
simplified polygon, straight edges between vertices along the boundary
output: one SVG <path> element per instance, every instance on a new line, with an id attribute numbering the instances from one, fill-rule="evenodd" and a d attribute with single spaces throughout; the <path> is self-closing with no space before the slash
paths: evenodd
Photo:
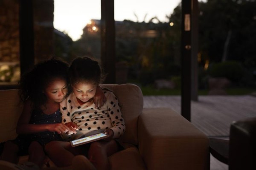
<path id="1" fill-rule="evenodd" d="M 99 85 L 105 79 L 99 62 L 90 57 L 75 58 L 69 68 L 69 77 L 71 84 L 85 81 Z"/>

